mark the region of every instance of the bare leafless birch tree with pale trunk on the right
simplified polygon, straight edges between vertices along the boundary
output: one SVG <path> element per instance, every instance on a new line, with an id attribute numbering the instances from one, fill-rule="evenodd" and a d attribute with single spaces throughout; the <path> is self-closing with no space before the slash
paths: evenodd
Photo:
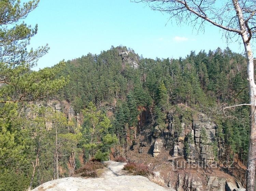
<path id="1" fill-rule="evenodd" d="M 247 58 L 247 80 L 251 112 L 250 145 L 247 163 L 247 191 L 254 191 L 256 166 L 256 85 L 252 40 L 256 34 L 256 0 L 132 0 L 147 3 L 153 10 L 166 12 L 178 23 L 204 30 L 207 22 L 223 29 L 227 39 L 241 36 Z M 239 106 L 237 105 L 237 106 Z M 234 106 L 232 106 L 234 107 Z"/>

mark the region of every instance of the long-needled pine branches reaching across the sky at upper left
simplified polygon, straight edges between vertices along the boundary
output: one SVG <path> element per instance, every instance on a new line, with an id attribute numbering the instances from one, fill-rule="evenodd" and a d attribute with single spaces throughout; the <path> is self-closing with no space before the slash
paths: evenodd
<path id="1" fill-rule="evenodd" d="M 63 76 L 56 78 L 64 62 L 52 68 L 30 71 L 38 58 L 47 53 L 48 46 L 28 51 L 27 45 L 37 33 L 37 25 L 31 28 L 20 20 L 26 18 L 38 2 L 33 0 L 23 5 L 13 0 L 0 2 L 0 83 L 4 84 L 0 88 L 0 102 L 44 98 L 66 84 Z"/>

